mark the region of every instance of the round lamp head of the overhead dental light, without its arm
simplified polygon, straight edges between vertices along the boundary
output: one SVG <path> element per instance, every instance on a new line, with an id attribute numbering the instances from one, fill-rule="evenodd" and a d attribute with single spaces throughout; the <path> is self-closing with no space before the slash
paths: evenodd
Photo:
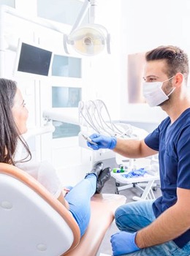
<path id="1" fill-rule="evenodd" d="M 104 26 L 88 24 L 75 29 L 69 34 L 67 42 L 77 51 L 77 53 L 94 56 L 101 53 L 107 45 L 107 30 Z"/>

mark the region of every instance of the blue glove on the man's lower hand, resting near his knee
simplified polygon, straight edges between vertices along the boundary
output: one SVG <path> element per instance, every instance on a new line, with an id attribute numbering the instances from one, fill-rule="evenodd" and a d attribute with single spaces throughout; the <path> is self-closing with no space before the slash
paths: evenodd
<path id="1" fill-rule="evenodd" d="M 140 248 L 135 244 L 136 233 L 128 233 L 121 231 L 113 234 L 111 236 L 111 244 L 113 250 L 113 256 L 125 255 L 126 253 L 135 252 L 140 250 Z"/>

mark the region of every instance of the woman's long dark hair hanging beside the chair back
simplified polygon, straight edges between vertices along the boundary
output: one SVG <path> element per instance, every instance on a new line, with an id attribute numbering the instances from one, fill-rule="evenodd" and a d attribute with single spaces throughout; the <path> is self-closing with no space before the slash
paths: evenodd
<path id="1" fill-rule="evenodd" d="M 23 162 L 28 159 L 28 157 L 31 159 L 31 152 L 29 151 L 28 145 L 26 141 L 20 137 L 18 127 L 12 116 L 12 107 L 16 91 L 17 84 L 15 81 L 0 78 L 0 162 L 12 165 L 15 165 L 14 157 L 18 140 L 20 140 L 28 153 L 24 159 L 20 159 L 18 162 Z"/>

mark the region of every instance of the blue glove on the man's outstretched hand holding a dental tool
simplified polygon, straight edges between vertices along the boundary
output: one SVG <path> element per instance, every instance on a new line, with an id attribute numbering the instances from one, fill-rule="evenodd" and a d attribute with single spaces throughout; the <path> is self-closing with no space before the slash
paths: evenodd
<path id="1" fill-rule="evenodd" d="M 90 136 L 91 140 L 97 145 L 87 142 L 88 147 L 98 150 L 99 148 L 110 148 L 113 149 L 116 146 L 117 139 L 115 137 L 108 137 L 94 133 Z"/>

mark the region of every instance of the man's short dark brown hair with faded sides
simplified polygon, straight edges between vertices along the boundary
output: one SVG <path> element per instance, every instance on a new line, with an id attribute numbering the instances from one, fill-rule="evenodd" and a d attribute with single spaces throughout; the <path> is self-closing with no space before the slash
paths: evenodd
<path id="1" fill-rule="evenodd" d="M 189 59 L 186 53 L 177 46 L 159 46 L 145 54 L 146 61 L 165 60 L 167 69 L 165 70 L 168 78 L 177 72 L 183 74 L 186 83 L 189 75 Z"/>

